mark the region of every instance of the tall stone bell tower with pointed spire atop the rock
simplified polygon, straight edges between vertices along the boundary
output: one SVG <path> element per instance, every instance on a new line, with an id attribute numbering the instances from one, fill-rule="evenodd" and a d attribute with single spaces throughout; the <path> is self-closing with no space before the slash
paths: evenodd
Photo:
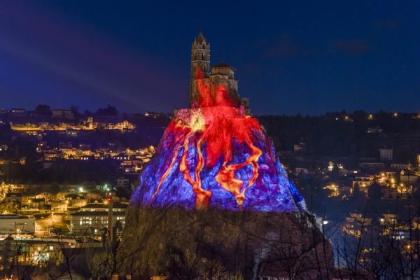
<path id="1" fill-rule="evenodd" d="M 190 76 L 190 106 L 198 103 L 197 80 L 209 78 L 210 73 L 210 44 L 200 30 L 191 48 L 191 76 Z"/>

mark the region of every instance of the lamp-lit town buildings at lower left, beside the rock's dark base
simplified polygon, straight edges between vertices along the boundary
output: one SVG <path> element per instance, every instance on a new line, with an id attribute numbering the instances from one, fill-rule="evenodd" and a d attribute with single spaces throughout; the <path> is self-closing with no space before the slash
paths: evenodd
<path id="1" fill-rule="evenodd" d="M 60 187 L 62 191 L 51 193 L 45 191 L 48 186 L 1 186 L 0 260 L 58 267 L 69 258 L 84 257 L 86 250 L 104 247 L 109 221 L 113 236 L 120 236 L 125 198 L 108 186 Z"/>

